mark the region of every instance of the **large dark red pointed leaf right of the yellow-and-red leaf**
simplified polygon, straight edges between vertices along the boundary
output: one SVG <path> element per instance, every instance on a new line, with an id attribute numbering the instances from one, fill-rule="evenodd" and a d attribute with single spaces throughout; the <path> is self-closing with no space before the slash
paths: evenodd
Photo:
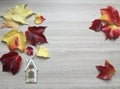
<path id="1" fill-rule="evenodd" d="M 28 43 L 32 45 L 36 45 L 37 43 L 47 43 L 47 39 L 44 36 L 44 31 L 45 31 L 44 26 L 33 26 L 33 27 L 28 27 L 28 31 L 25 32 L 26 38 Z"/>

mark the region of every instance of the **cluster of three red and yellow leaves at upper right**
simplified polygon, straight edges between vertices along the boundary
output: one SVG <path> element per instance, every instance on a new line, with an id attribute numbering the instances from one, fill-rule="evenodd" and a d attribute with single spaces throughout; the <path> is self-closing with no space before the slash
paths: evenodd
<path id="1" fill-rule="evenodd" d="M 94 31 L 102 31 L 106 39 L 116 40 L 120 36 L 120 16 L 112 6 L 101 9 L 102 16 L 95 19 L 89 28 Z"/>

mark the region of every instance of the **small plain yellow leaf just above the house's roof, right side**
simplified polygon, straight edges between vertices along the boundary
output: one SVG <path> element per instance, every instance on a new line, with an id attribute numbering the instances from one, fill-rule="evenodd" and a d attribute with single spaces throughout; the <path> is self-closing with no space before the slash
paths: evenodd
<path id="1" fill-rule="evenodd" d="M 42 58 L 49 58 L 50 54 L 48 49 L 45 46 L 40 46 L 37 50 L 36 56 L 39 56 Z"/>

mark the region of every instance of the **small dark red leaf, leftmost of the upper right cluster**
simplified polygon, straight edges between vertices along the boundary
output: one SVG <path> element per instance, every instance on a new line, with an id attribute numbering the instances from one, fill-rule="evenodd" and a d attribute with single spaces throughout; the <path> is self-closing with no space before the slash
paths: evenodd
<path id="1" fill-rule="evenodd" d="M 94 30 L 94 31 L 101 31 L 102 28 L 102 22 L 100 19 L 96 19 L 92 22 L 92 26 L 89 27 L 89 29 Z"/>

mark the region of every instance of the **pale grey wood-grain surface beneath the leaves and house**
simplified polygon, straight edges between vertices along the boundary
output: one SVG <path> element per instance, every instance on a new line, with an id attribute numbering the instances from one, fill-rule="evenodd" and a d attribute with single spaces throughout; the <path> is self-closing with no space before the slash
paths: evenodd
<path id="1" fill-rule="evenodd" d="M 0 63 L 0 89 L 120 89 L 120 39 L 105 40 L 103 33 L 89 30 L 92 20 L 100 17 L 100 8 L 114 6 L 120 12 L 119 0 L 0 0 L 0 15 L 21 3 L 46 17 L 48 26 L 46 47 L 51 58 L 35 58 L 39 68 L 37 84 L 26 84 L 24 53 L 20 72 L 13 76 L 2 72 Z M 33 26 L 34 17 L 28 19 Z M 21 26 L 26 31 L 28 26 Z M 9 29 L 0 29 L 0 39 Z M 0 43 L 0 56 L 8 52 Z M 110 81 L 96 78 L 95 65 L 109 59 L 116 68 Z"/>

